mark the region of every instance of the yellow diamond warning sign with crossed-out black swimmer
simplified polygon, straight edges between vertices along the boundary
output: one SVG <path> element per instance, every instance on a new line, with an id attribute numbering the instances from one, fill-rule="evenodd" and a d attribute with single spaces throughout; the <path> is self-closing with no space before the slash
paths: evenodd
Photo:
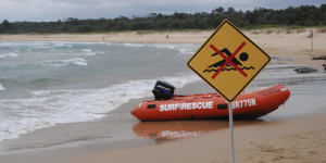
<path id="1" fill-rule="evenodd" d="M 224 21 L 188 62 L 188 66 L 233 101 L 271 58 L 235 25 Z"/>

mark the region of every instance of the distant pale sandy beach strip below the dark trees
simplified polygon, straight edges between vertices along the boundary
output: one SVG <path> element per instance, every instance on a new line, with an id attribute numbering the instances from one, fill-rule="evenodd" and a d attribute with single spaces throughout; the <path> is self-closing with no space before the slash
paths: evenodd
<path id="1" fill-rule="evenodd" d="M 314 32 L 313 50 L 310 38 Z M 66 41 L 105 43 L 199 43 L 202 45 L 214 30 L 180 32 L 116 32 L 103 34 L 45 34 L 45 35 L 0 35 L 0 41 Z M 303 29 L 256 29 L 243 30 L 251 40 L 271 57 L 287 58 L 290 63 L 303 64 L 323 70 L 321 60 L 310 60 L 326 55 L 326 33 L 317 28 Z"/>

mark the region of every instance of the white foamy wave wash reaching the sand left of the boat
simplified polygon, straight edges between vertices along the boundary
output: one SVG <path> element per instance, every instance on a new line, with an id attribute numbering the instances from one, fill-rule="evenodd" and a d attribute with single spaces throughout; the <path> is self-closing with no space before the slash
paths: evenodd
<path id="1" fill-rule="evenodd" d="M 159 79 L 184 87 L 199 80 L 196 75 L 162 77 Z M 88 122 L 105 116 L 131 99 L 151 96 L 155 79 L 129 80 L 101 89 L 41 90 L 33 98 L 0 100 L 1 110 L 15 114 L 0 114 L 0 140 L 17 138 L 36 129 L 63 123 Z M 3 116 L 3 117 L 1 117 Z"/>

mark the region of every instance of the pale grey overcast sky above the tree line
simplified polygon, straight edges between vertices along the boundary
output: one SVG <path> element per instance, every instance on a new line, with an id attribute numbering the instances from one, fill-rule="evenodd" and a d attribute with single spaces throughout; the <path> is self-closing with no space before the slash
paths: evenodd
<path id="1" fill-rule="evenodd" d="M 285 9 L 317 5 L 326 0 L 0 0 L 0 21 L 57 21 L 67 17 L 112 18 L 149 13 L 211 12 L 218 7 L 236 10 Z"/>

